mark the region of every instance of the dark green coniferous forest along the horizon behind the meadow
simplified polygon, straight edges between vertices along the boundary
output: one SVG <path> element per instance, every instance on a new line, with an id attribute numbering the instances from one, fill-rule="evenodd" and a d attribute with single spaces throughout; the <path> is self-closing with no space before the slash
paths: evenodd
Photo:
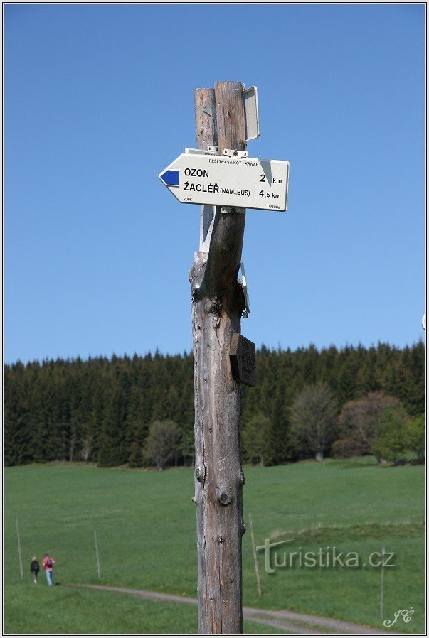
<path id="1" fill-rule="evenodd" d="M 244 442 L 253 442 L 260 423 L 265 465 L 312 456 L 291 426 L 292 404 L 311 384 L 328 386 L 338 415 L 371 393 L 395 397 L 410 418 L 424 413 L 421 341 L 403 349 L 384 343 L 320 351 L 310 345 L 293 352 L 263 346 L 256 367 L 257 386 L 241 390 L 242 433 Z M 192 355 L 17 362 L 6 365 L 4 381 L 6 465 L 78 460 L 141 467 L 155 422 L 175 428 L 168 464 L 193 463 Z M 245 463 L 255 462 L 250 448 L 244 446 Z M 332 451 L 329 445 L 326 451 Z"/>

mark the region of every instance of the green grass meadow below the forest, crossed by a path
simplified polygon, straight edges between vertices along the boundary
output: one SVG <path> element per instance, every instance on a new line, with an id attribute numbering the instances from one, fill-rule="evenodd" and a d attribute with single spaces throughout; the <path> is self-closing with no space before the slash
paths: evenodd
<path id="1" fill-rule="evenodd" d="M 280 467 L 245 468 L 245 521 L 252 513 L 255 541 L 293 539 L 283 552 L 354 552 L 359 567 L 264 570 L 258 597 L 250 534 L 243 537 L 243 604 L 290 609 L 382 627 L 379 568 L 371 553 L 394 553 L 385 570 L 385 617 L 415 608 L 393 632 L 423 632 L 424 472 L 420 466 L 381 467 L 371 458 Z M 55 580 L 99 583 L 196 596 L 194 476 L 100 469 L 83 465 L 29 465 L 5 472 L 6 632 L 196 632 L 187 605 L 110 592 L 48 589 L 31 583 L 31 556 L 55 557 Z M 24 560 L 21 580 L 18 518 Z M 94 529 L 102 577 L 97 578 Z M 301 550 L 300 550 L 301 548 Z M 328 550 L 329 548 L 329 550 Z M 271 562 L 273 562 L 273 555 Z M 324 559 L 326 563 L 326 558 Z M 281 563 L 281 560 L 279 564 Z M 364 566 L 365 563 L 365 566 Z M 401 623 L 401 625 L 400 625 Z M 247 632 L 272 627 L 245 623 Z"/>

